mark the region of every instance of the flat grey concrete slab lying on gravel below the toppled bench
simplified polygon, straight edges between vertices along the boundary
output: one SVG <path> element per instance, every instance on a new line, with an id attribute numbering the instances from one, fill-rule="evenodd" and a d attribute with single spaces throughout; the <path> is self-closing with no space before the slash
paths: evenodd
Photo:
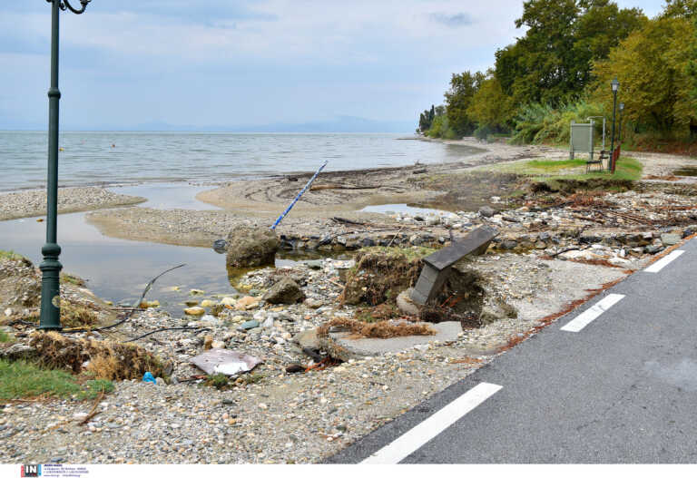
<path id="1" fill-rule="evenodd" d="M 351 338 L 350 332 L 336 332 L 324 337 L 322 346 L 329 355 L 340 360 L 360 359 L 366 356 L 379 356 L 388 352 L 396 353 L 413 346 L 439 341 L 447 342 L 456 340 L 457 334 L 462 332 L 459 322 L 441 322 L 440 324 L 428 324 L 436 330 L 433 336 L 407 336 L 393 338 Z"/>

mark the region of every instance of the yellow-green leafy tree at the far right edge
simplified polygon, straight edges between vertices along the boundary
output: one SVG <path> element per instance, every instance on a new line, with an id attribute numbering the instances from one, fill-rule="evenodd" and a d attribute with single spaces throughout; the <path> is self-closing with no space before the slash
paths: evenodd
<path id="1" fill-rule="evenodd" d="M 610 82 L 620 82 L 624 117 L 638 132 L 682 138 L 697 126 L 692 96 L 695 27 L 687 18 L 662 16 L 629 35 L 607 58 L 594 63 L 594 97 L 612 111 Z"/>

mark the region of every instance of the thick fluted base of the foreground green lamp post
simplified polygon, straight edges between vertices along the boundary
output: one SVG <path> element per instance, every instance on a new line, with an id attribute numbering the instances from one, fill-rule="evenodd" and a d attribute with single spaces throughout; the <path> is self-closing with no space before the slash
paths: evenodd
<path id="1" fill-rule="evenodd" d="M 61 330 L 61 269 L 58 261 L 61 247 L 58 244 L 45 244 L 41 249 L 44 262 L 39 268 L 41 278 L 41 317 L 39 328 L 42 330 Z"/>

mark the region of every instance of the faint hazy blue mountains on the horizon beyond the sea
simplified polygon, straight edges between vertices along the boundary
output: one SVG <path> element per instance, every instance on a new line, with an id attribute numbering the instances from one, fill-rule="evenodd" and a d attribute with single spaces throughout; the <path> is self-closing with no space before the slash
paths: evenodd
<path id="1" fill-rule="evenodd" d="M 2 124 L 0 129 L 8 130 L 43 130 L 46 127 L 38 125 L 21 124 L 12 127 L 10 124 Z M 338 116 L 325 122 L 286 123 L 277 122 L 271 124 L 251 126 L 191 126 L 170 124 L 167 122 L 146 122 L 133 126 L 123 125 L 77 125 L 62 124 L 62 131 L 131 131 L 131 132 L 414 132 L 414 122 L 382 122 L 358 118 L 355 116 Z"/>

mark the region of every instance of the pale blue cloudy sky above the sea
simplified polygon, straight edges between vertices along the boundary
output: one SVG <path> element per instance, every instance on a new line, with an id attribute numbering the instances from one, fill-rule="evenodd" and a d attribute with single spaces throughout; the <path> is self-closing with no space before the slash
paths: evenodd
<path id="1" fill-rule="evenodd" d="M 653 16 L 663 0 L 617 3 Z M 93 0 L 61 14 L 61 128 L 358 117 L 413 131 L 452 73 L 485 71 L 523 34 L 522 11 L 522 0 Z M 0 129 L 46 129 L 50 39 L 51 4 L 0 4 Z"/>

